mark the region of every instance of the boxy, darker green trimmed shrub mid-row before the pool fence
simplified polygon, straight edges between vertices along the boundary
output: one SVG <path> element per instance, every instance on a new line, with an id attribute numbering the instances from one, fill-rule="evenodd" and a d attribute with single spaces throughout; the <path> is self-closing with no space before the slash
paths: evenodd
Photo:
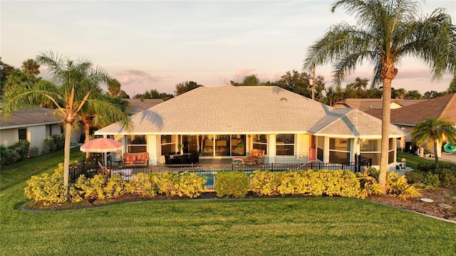
<path id="1" fill-rule="evenodd" d="M 242 198 L 249 191 L 249 176 L 244 171 L 219 171 L 214 185 L 217 197 Z"/>

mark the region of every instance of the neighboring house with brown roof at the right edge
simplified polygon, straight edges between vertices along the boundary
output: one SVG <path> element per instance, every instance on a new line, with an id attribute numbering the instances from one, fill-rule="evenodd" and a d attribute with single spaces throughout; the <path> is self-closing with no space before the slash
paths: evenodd
<path id="1" fill-rule="evenodd" d="M 391 110 L 391 124 L 395 124 L 398 127 L 405 129 L 409 134 L 401 143 L 403 144 L 403 147 L 405 147 L 405 150 L 408 150 L 410 146 L 413 146 L 410 143 L 410 134 L 413 132 L 413 127 L 415 127 L 416 124 L 423 122 L 423 118 L 425 117 L 447 117 L 451 122 L 456 124 L 456 93 Z M 432 146 L 432 144 L 430 146 Z M 433 149 L 430 148 L 430 151 L 433 151 Z M 441 156 L 441 154 L 442 146 L 440 145 L 437 148 L 437 155 Z"/>

